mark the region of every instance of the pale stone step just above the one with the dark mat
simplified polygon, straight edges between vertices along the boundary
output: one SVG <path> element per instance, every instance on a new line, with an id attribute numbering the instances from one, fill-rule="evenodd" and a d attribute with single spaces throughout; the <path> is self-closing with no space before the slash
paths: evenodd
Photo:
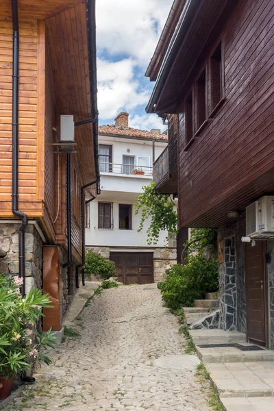
<path id="1" fill-rule="evenodd" d="M 219 328 L 192 329 L 190 336 L 195 344 L 245 343 L 247 340 L 247 336 L 242 332 L 223 331 Z"/>

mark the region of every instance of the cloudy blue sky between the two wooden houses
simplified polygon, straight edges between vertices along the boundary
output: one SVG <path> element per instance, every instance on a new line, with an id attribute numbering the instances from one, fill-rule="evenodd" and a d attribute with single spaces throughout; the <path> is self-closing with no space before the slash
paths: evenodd
<path id="1" fill-rule="evenodd" d="M 97 1 L 97 76 L 99 123 L 114 124 L 129 112 L 129 127 L 160 128 L 146 114 L 153 83 L 145 71 L 160 38 L 173 0 Z"/>

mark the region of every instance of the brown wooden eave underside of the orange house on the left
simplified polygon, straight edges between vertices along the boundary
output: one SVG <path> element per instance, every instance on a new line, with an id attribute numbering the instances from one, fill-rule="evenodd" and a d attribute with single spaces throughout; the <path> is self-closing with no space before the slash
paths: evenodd
<path id="1" fill-rule="evenodd" d="M 71 114 L 75 122 L 97 116 L 96 47 L 90 40 L 95 16 L 91 14 L 95 14 L 95 0 L 18 0 L 19 37 L 21 21 L 45 21 L 55 113 Z M 10 0 L 1 0 L 0 15 L 12 18 Z M 82 184 L 99 175 L 94 144 L 97 135 L 97 123 L 75 127 L 75 155 Z"/>

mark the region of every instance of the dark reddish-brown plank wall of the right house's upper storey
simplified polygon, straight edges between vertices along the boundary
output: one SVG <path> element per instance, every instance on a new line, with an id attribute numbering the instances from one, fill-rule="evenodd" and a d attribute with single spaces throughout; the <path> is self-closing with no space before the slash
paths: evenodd
<path id="1" fill-rule="evenodd" d="M 179 109 L 180 227 L 221 225 L 229 209 L 274 192 L 273 25 L 273 1 L 237 2 L 222 34 L 225 103 L 187 151 Z"/>

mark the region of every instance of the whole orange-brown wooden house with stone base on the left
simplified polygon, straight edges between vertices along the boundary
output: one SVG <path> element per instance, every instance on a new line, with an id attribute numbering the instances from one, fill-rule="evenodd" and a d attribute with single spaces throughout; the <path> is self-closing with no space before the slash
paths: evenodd
<path id="1" fill-rule="evenodd" d="M 84 187 L 95 195 L 99 178 L 95 1 L 3 0 L 0 22 L 1 271 L 49 291 L 54 260 L 64 312 L 83 265 Z"/>

